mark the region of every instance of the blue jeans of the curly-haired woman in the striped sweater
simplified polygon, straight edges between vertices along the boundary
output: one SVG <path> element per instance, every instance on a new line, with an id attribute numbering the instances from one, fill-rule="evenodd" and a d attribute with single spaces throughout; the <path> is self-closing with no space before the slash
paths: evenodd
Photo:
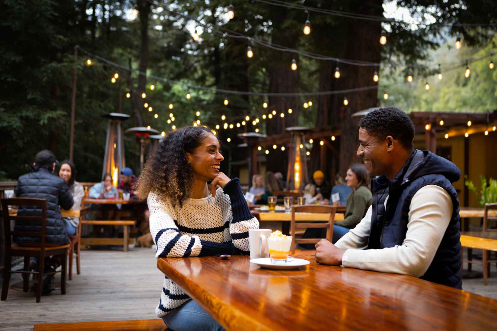
<path id="1" fill-rule="evenodd" d="M 172 331 L 225 331 L 193 300 L 185 302 L 162 319 Z"/>

